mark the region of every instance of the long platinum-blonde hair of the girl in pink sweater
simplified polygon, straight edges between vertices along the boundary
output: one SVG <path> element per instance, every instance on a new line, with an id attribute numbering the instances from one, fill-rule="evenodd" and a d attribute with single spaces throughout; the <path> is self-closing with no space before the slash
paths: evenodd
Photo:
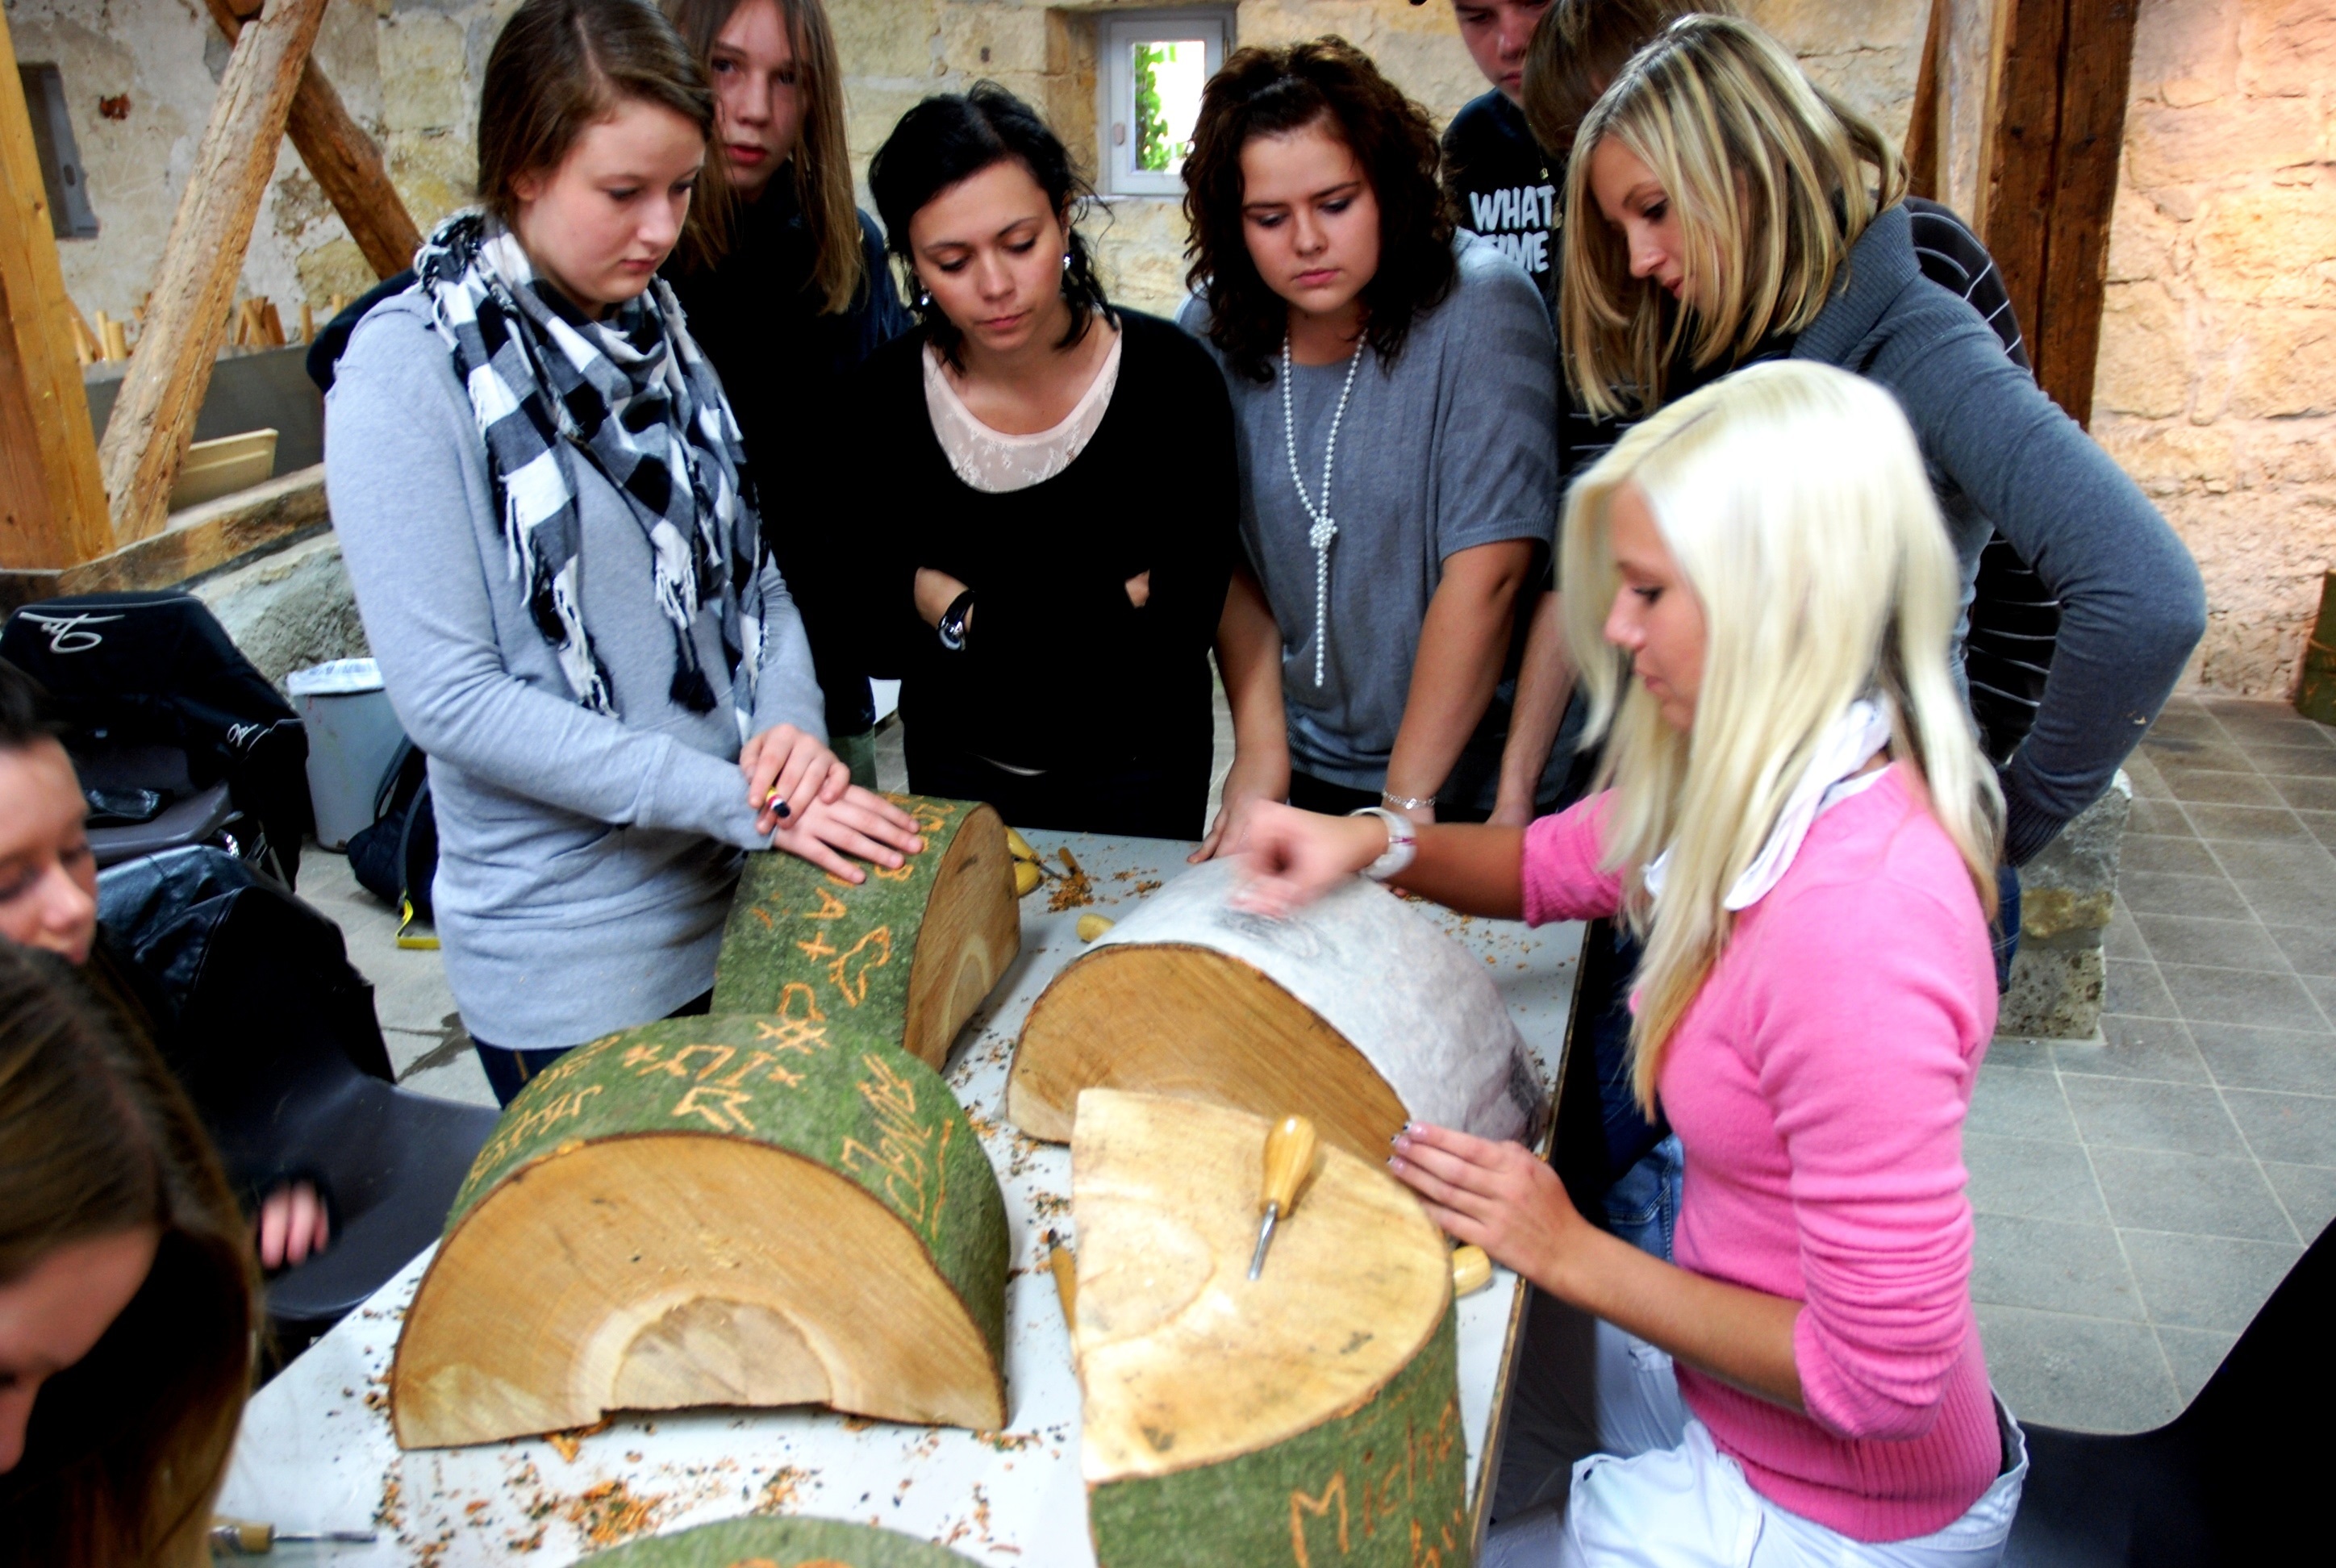
<path id="1" fill-rule="evenodd" d="M 1605 636 L 1621 575 L 1614 495 L 1638 486 L 1703 605 L 1696 717 L 1668 727 Z M 1726 890 L 1850 703 L 1890 708 L 1890 757 L 1995 909 L 2002 797 L 1951 671 L 1955 568 L 1913 430 L 1890 393 L 1824 365 L 1752 365 L 1633 428 L 1565 498 L 1565 633 L 1612 736 L 1607 867 L 1647 937 L 1631 1082 L 1654 1105 L 1663 1049 L 1729 944 Z M 1649 860 L 1670 853 L 1661 900 Z"/>

